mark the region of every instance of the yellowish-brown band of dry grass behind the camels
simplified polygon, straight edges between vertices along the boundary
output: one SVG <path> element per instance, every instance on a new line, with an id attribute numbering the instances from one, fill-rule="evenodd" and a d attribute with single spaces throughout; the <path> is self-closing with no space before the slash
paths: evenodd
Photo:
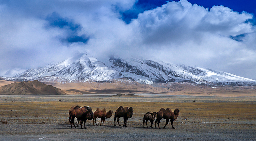
<path id="1" fill-rule="evenodd" d="M 180 109 L 178 122 L 216 122 L 236 123 L 237 121 L 254 121 L 256 103 L 251 102 L 130 102 L 130 101 L 48 101 L 48 102 L 0 102 L 0 121 L 6 123 L 51 123 L 53 121 L 68 124 L 68 110 L 72 106 L 90 106 L 106 108 L 114 112 L 119 106 L 134 109 L 131 122 L 141 124 L 143 115 L 157 112 L 160 108 Z M 106 122 L 113 124 L 113 116 Z M 90 123 L 91 121 L 89 121 Z M 4 122 L 3 122 L 4 123 Z M 247 123 L 247 122 L 244 122 Z"/>

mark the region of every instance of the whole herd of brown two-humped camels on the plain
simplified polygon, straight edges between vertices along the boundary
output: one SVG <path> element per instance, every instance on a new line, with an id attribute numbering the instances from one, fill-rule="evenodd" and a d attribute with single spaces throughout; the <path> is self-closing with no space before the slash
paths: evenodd
<path id="1" fill-rule="evenodd" d="M 147 112 L 144 117 L 143 117 L 143 128 L 144 127 L 144 124 L 145 124 L 145 121 L 146 121 L 146 125 L 147 125 L 147 122 L 150 121 L 151 125 L 149 126 L 152 127 L 153 123 L 154 123 L 154 120 L 156 118 L 156 121 L 155 121 L 155 128 L 156 128 L 156 122 L 157 122 L 157 125 L 158 125 L 158 129 L 161 129 L 159 127 L 159 123 L 160 123 L 160 120 L 161 119 L 166 119 L 166 123 L 164 125 L 164 128 L 166 127 L 166 125 L 168 124 L 169 121 L 171 121 L 171 125 L 173 124 L 173 121 L 175 121 L 178 116 L 179 116 L 179 112 L 180 110 L 179 109 L 175 109 L 174 112 L 172 112 L 172 110 L 170 108 L 167 108 L 167 109 L 164 109 L 164 108 L 161 108 L 158 112 Z M 92 112 L 92 108 L 89 107 L 89 106 L 84 106 L 84 107 L 80 107 L 80 106 L 74 106 L 74 107 L 71 107 L 68 111 L 69 113 L 69 123 L 70 123 L 70 126 L 71 128 L 72 127 L 72 124 L 73 126 L 76 128 L 76 125 L 77 127 L 79 127 L 79 121 L 81 121 L 81 129 L 83 129 L 83 123 L 84 123 L 84 129 L 86 129 L 85 127 L 85 122 L 86 120 L 92 120 L 93 122 L 93 126 L 94 126 L 94 122 L 97 125 L 96 123 L 96 119 L 97 117 L 99 117 L 101 119 L 100 121 L 100 126 L 101 126 L 101 122 L 103 121 L 103 125 L 105 126 L 105 120 L 106 118 L 110 118 L 112 116 L 112 113 L 113 111 L 112 110 L 109 110 L 108 112 L 106 112 L 106 109 L 103 108 L 102 110 L 100 110 L 100 108 L 97 108 L 97 110 L 93 113 Z M 120 106 L 116 112 L 115 112 L 115 117 L 114 117 L 114 126 L 116 126 L 116 118 L 117 118 L 117 123 L 119 126 L 121 126 L 119 124 L 119 119 L 120 117 L 123 117 L 124 118 L 124 127 L 127 127 L 127 120 L 129 118 L 132 118 L 132 115 L 133 115 L 133 109 L 132 107 L 128 108 L 128 107 L 123 107 L 123 106 Z M 77 118 L 77 123 L 75 125 L 75 117 Z M 147 125 L 148 127 L 148 125 Z M 175 129 L 172 125 L 172 128 Z"/>

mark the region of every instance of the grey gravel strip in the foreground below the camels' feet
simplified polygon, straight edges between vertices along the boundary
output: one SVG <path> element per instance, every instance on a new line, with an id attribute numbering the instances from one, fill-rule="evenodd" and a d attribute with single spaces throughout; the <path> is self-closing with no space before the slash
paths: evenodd
<path id="1" fill-rule="evenodd" d="M 123 126 L 92 126 L 86 125 L 87 129 L 71 129 L 68 124 L 1 124 L 0 132 L 4 140 L 244 140 L 252 141 L 256 138 L 255 125 L 219 125 L 213 123 L 174 123 L 176 129 L 167 125 L 166 129 L 143 128 L 128 123 Z M 163 125 L 162 125 L 163 127 Z M 11 133 L 11 135 L 9 135 Z"/>

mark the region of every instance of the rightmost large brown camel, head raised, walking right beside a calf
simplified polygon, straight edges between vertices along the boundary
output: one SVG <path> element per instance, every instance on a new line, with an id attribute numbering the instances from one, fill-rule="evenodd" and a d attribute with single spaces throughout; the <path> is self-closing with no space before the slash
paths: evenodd
<path id="1" fill-rule="evenodd" d="M 167 108 L 166 110 L 164 108 L 161 108 L 156 113 L 156 121 L 155 121 L 155 123 L 157 122 L 158 129 L 161 129 L 159 127 L 159 123 L 160 123 L 161 119 L 166 119 L 166 123 L 164 125 L 164 129 L 165 129 L 165 126 L 168 124 L 169 120 L 171 120 L 171 125 L 172 125 L 173 121 L 175 121 L 178 118 L 179 112 L 180 112 L 179 109 L 175 109 L 174 112 L 172 112 L 172 110 L 170 108 Z M 156 128 L 156 125 L 155 125 L 155 128 Z M 173 125 L 172 125 L 172 129 L 175 129 L 173 127 Z"/>

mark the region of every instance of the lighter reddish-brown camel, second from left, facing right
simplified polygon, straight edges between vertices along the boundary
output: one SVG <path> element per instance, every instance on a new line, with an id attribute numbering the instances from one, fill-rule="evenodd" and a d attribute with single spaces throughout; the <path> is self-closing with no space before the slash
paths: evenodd
<path id="1" fill-rule="evenodd" d="M 93 126 L 94 126 L 94 122 L 96 123 L 97 117 L 99 117 L 101 119 L 100 126 L 101 126 L 101 122 L 102 121 L 103 121 L 103 124 L 105 126 L 106 118 L 107 119 L 110 118 L 112 116 L 112 113 L 113 113 L 113 111 L 111 111 L 111 110 L 109 110 L 108 113 L 106 113 L 106 109 L 105 108 L 103 108 L 102 110 L 100 110 L 100 108 L 97 108 L 97 110 L 93 114 L 93 120 L 92 120 Z M 98 126 L 97 123 L 96 123 L 96 126 Z"/>

